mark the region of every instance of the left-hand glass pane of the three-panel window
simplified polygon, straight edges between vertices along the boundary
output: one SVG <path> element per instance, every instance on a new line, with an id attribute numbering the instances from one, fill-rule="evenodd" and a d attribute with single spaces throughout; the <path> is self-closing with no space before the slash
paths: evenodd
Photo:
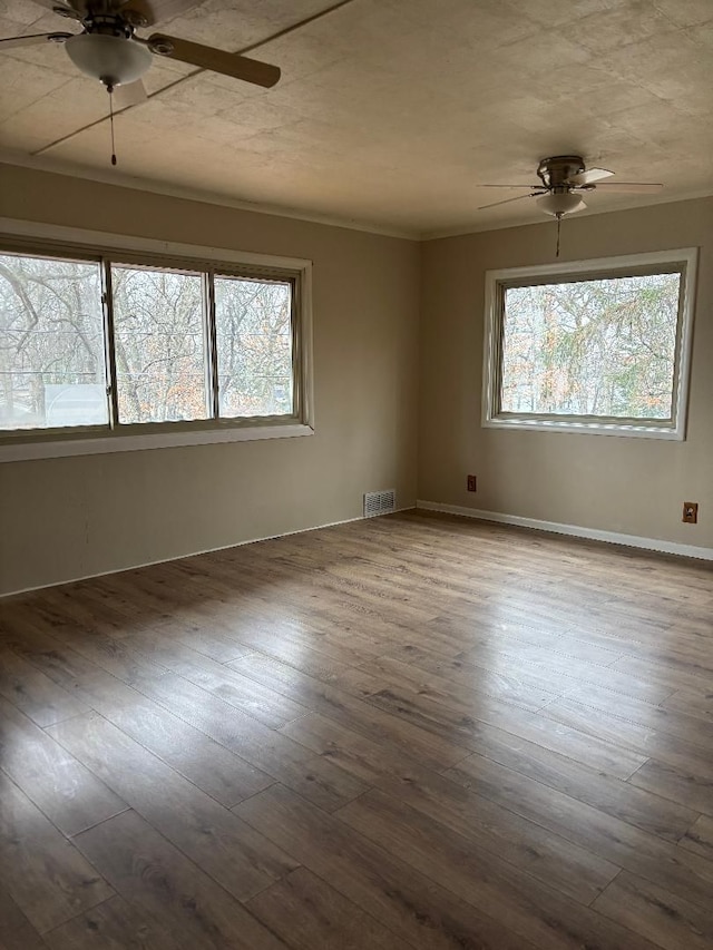
<path id="1" fill-rule="evenodd" d="M 99 265 L 0 255 L 0 429 L 108 422 Z"/>

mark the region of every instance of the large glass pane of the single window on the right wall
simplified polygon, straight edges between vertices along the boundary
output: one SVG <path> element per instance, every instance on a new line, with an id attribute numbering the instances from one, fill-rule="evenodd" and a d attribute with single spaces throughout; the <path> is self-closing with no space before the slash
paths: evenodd
<path id="1" fill-rule="evenodd" d="M 671 419 L 681 274 L 511 287 L 504 412 Z"/>

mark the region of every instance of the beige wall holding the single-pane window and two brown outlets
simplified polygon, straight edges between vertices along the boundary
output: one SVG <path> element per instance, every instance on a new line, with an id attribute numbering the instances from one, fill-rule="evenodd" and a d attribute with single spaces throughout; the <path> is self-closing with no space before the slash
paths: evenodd
<path id="1" fill-rule="evenodd" d="M 419 498 L 713 547 L 713 198 L 563 223 L 564 261 L 690 246 L 701 251 L 688 433 L 670 442 L 482 429 L 484 273 L 550 263 L 555 224 L 423 244 Z M 701 506 L 695 527 L 681 523 L 684 500 Z"/>

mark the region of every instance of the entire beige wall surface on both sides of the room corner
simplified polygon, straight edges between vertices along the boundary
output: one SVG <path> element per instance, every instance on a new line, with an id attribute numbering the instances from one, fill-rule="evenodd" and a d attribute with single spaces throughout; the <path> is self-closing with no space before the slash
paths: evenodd
<path id="1" fill-rule="evenodd" d="M 355 518 L 367 490 L 395 488 L 409 507 L 417 468 L 427 501 L 713 547 L 712 198 L 563 227 L 563 259 L 701 247 L 688 434 L 668 442 L 480 428 L 484 273 L 551 262 L 549 222 L 419 248 L 29 169 L 0 176 L 0 216 L 311 258 L 318 433 L 0 464 L 0 592 Z M 696 527 L 681 523 L 684 500 L 700 502 Z"/>

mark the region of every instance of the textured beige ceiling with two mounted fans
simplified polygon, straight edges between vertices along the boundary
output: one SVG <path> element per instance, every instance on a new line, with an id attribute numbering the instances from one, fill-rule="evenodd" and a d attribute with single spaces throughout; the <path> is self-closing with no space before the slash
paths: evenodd
<path id="1" fill-rule="evenodd" d="M 333 0 L 207 0 L 164 21 L 237 50 Z M 0 36 L 66 29 L 0 0 Z M 661 196 L 588 196 L 590 212 L 713 193 L 713 0 L 353 0 L 252 53 L 264 90 L 155 60 L 116 123 L 117 180 L 223 196 L 413 235 L 534 222 L 479 183 L 535 180 L 577 153 Z M 0 52 L 0 146 L 14 160 L 111 175 L 107 96 L 61 46 Z M 48 147 L 50 146 L 50 147 Z M 35 156 L 32 158 L 32 156 Z"/>

